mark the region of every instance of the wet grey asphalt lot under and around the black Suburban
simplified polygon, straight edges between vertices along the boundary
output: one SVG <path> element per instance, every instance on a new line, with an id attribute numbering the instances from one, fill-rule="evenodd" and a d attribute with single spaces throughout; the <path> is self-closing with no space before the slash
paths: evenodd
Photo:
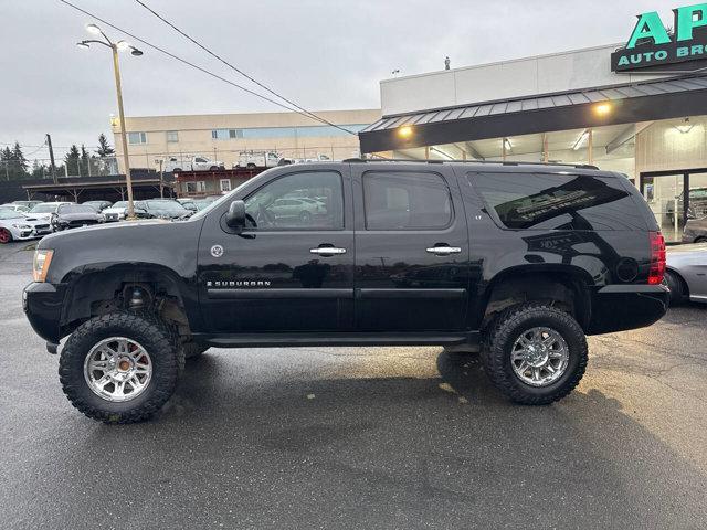
<path id="1" fill-rule="evenodd" d="M 2 528 L 707 527 L 707 307 L 591 338 L 547 407 L 441 348 L 211 350 L 106 426 L 24 319 L 24 247 L 0 247 Z"/>

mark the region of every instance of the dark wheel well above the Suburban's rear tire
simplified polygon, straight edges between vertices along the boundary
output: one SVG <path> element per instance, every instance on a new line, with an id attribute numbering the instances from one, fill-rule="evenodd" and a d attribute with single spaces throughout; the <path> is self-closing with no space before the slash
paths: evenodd
<path id="1" fill-rule="evenodd" d="M 582 329 L 589 325 L 591 303 L 587 284 L 571 273 L 516 273 L 494 280 L 486 290 L 482 329 L 507 307 L 547 301 L 574 317 Z"/>

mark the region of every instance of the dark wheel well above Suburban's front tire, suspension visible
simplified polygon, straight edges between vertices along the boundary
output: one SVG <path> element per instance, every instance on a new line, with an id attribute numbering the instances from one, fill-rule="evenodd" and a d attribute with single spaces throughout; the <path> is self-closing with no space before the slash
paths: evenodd
<path id="1" fill-rule="evenodd" d="M 62 336 L 86 320 L 116 310 L 148 311 L 191 335 L 176 280 L 154 269 L 116 269 L 82 275 L 70 288 L 62 314 Z"/>

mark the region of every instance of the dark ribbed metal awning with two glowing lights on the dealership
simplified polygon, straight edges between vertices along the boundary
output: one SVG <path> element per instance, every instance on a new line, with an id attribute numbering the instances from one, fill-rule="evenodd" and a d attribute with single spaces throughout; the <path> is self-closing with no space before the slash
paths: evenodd
<path id="1" fill-rule="evenodd" d="M 359 140 L 377 152 L 703 114 L 707 75 L 683 76 L 383 116 Z"/>

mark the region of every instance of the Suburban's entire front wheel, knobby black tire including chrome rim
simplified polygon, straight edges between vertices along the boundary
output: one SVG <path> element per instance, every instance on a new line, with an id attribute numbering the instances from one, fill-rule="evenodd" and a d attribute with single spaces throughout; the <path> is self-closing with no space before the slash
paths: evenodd
<path id="1" fill-rule="evenodd" d="M 159 321 L 112 312 L 92 318 L 64 346 L 59 374 L 68 401 L 104 423 L 147 420 L 172 395 L 183 350 Z"/>

